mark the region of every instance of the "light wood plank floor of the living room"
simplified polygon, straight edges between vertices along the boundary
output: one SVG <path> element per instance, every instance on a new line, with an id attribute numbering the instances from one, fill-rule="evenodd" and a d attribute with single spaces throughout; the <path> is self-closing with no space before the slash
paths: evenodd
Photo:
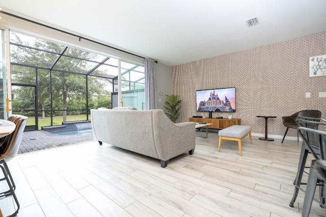
<path id="1" fill-rule="evenodd" d="M 289 207 L 301 142 L 196 138 L 194 155 L 160 161 L 88 142 L 17 155 L 8 165 L 18 216 L 301 216 L 304 194 Z M 304 180 L 307 175 L 304 176 Z M 0 188 L 4 188 L 0 183 Z M 0 199 L 4 216 L 13 199 Z M 325 216 L 313 202 L 311 216 Z"/>

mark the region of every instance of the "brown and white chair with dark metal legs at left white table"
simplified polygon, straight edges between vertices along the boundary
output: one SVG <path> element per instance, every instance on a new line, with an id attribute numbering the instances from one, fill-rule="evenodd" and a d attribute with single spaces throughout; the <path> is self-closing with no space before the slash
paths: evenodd
<path id="1" fill-rule="evenodd" d="M 13 115 L 8 118 L 11 122 L 16 124 L 15 130 L 10 134 L 7 135 L 2 143 L 0 144 L 0 167 L 4 173 L 4 178 L 0 179 L 0 181 L 7 181 L 9 189 L 6 189 L 4 192 L 0 193 L 0 199 L 8 196 L 13 196 L 14 201 L 16 203 L 17 209 L 15 212 L 8 216 L 16 216 L 19 210 L 19 202 L 15 194 L 16 185 L 12 178 L 12 175 L 9 171 L 7 162 L 13 157 L 17 155 L 19 150 L 19 146 L 22 139 L 22 133 L 25 129 L 28 117 L 20 116 L 20 115 Z"/>

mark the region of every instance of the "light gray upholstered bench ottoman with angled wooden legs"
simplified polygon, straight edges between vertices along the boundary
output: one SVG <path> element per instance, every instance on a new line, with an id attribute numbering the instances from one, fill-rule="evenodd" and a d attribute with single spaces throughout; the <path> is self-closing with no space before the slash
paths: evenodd
<path id="1" fill-rule="evenodd" d="M 250 137 L 250 143 L 253 144 L 253 140 L 251 138 L 251 126 L 233 125 L 220 130 L 219 152 L 221 150 L 222 140 L 233 140 L 233 141 L 238 141 L 239 154 L 240 156 L 242 156 L 241 140 L 247 137 L 247 135 L 249 135 Z"/>

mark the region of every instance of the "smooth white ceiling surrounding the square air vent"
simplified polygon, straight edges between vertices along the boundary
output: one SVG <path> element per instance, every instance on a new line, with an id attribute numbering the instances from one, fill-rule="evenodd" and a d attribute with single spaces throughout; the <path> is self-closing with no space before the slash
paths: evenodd
<path id="1" fill-rule="evenodd" d="M 174 66 L 326 31 L 325 0 L 0 0 L 3 11 Z M 258 16 L 248 28 L 246 19 Z"/>

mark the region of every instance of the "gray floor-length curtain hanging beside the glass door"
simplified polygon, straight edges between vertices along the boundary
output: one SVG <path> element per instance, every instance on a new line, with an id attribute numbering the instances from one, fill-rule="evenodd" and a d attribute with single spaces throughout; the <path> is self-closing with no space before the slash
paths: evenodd
<path id="1" fill-rule="evenodd" d="M 145 110 L 156 109 L 155 61 L 145 59 Z"/>

